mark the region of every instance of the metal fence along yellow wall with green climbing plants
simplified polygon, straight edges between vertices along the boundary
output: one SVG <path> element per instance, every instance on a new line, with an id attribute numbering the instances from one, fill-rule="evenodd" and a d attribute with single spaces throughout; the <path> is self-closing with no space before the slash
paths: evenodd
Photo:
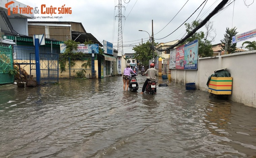
<path id="1" fill-rule="evenodd" d="M 91 55 L 59 57 L 59 78 L 92 78 Z"/>

